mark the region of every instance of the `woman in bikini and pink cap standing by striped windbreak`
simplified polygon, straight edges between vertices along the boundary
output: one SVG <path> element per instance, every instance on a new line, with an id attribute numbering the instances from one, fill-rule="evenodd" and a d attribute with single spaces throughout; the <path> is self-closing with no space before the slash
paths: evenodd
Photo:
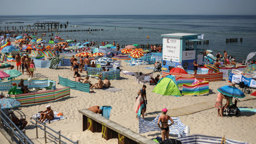
<path id="1" fill-rule="evenodd" d="M 166 115 L 167 109 L 162 109 L 162 114 L 157 122 L 158 127 L 161 129 L 161 135 L 162 135 L 162 141 L 165 141 L 166 139 L 169 139 L 169 127 L 173 125 L 173 119 L 169 115 Z M 168 124 L 168 120 L 171 121 L 171 125 Z M 160 126 L 160 121 L 161 121 L 161 126 Z"/>

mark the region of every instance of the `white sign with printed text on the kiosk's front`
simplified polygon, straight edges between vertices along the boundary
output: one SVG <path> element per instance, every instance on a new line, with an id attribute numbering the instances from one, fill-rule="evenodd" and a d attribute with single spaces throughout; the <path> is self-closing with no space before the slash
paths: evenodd
<path id="1" fill-rule="evenodd" d="M 163 37 L 163 60 L 179 62 L 181 40 L 175 37 Z"/>

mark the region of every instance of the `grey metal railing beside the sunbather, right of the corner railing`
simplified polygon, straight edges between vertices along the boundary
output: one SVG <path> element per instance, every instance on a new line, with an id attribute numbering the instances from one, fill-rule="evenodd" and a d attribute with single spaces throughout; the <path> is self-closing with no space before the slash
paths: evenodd
<path id="1" fill-rule="evenodd" d="M 33 120 L 35 121 L 35 123 L 33 122 Z M 65 141 L 61 140 L 61 137 L 63 137 L 64 139 L 66 139 L 67 141 L 69 141 L 69 142 L 71 142 L 71 143 L 78 144 L 78 140 L 77 140 L 76 142 L 71 141 L 70 139 L 68 139 L 68 138 L 65 137 L 64 135 L 61 135 L 61 131 L 57 132 L 57 131 L 51 129 L 50 127 L 47 127 L 47 125 L 45 125 L 45 123 L 41 123 L 40 121 L 38 121 L 37 119 L 35 119 L 35 118 L 33 118 L 33 117 L 30 118 L 30 122 L 33 123 L 33 125 L 35 125 L 35 131 L 36 131 L 36 136 L 37 136 L 37 138 L 38 138 L 38 127 L 39 127 L 40 129 L 42 129 L 42 130 L 45 132 L 45 143 L 47 143 L 47 133 L 48 133 L 49 135 L 51 135 L 51 136 L 54 137 L 55 139 L 59 140 L 59 144 L 60 144 L 60 143 L 66 143 Z M 38 125 L 38 123 L 41 124 L 41 125 L 43 125 L 43 127 L 42 127 L 41 125 Z M 53 133 L 59 135 L 59 137 L 56 137 L 55 135 L 53 135 L 52 133 L 50 133 L 49 131 L 47 131 L 46 128 L 49 129 L 49 130 L 51 130 L 51 131 L 53 131 Z"/>

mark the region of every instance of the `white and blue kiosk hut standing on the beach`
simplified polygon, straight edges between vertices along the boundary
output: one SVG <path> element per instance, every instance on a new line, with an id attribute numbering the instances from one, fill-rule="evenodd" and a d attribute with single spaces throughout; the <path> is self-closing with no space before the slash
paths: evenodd
<path id="1" fill-rule="evenodd" d="M 184 69 L 193 69 L 193 61 L 197 60 L 197 44 L 189 45 L 189 42 L 202 41 L 198 39 L 200 36 L 201 34 L 194 33 L 161 34 L 163 37 L 162 70 L 169 72 L 177 65 L 182 65 Z"/>

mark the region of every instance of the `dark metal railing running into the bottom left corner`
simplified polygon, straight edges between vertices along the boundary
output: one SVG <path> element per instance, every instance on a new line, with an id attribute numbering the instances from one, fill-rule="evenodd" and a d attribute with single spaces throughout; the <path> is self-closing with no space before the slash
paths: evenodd
<path id="1" fill-rule="evenodd" d="M 13 123 L 13 121 L 11 121 L 11 119 L 0 109 L 0 128 L 3 127 L 8 129 L 8 134 L 11 136 L 11 141 L 14 141 L 13 136 L 15 136 L 19 140 L 19 143 L 33 144 L 31 139 L 25 135 L 25 130 L 21 131 L 19 127 L 17 127 L 17 125 L 15 125 L 15 123 Z"/>

